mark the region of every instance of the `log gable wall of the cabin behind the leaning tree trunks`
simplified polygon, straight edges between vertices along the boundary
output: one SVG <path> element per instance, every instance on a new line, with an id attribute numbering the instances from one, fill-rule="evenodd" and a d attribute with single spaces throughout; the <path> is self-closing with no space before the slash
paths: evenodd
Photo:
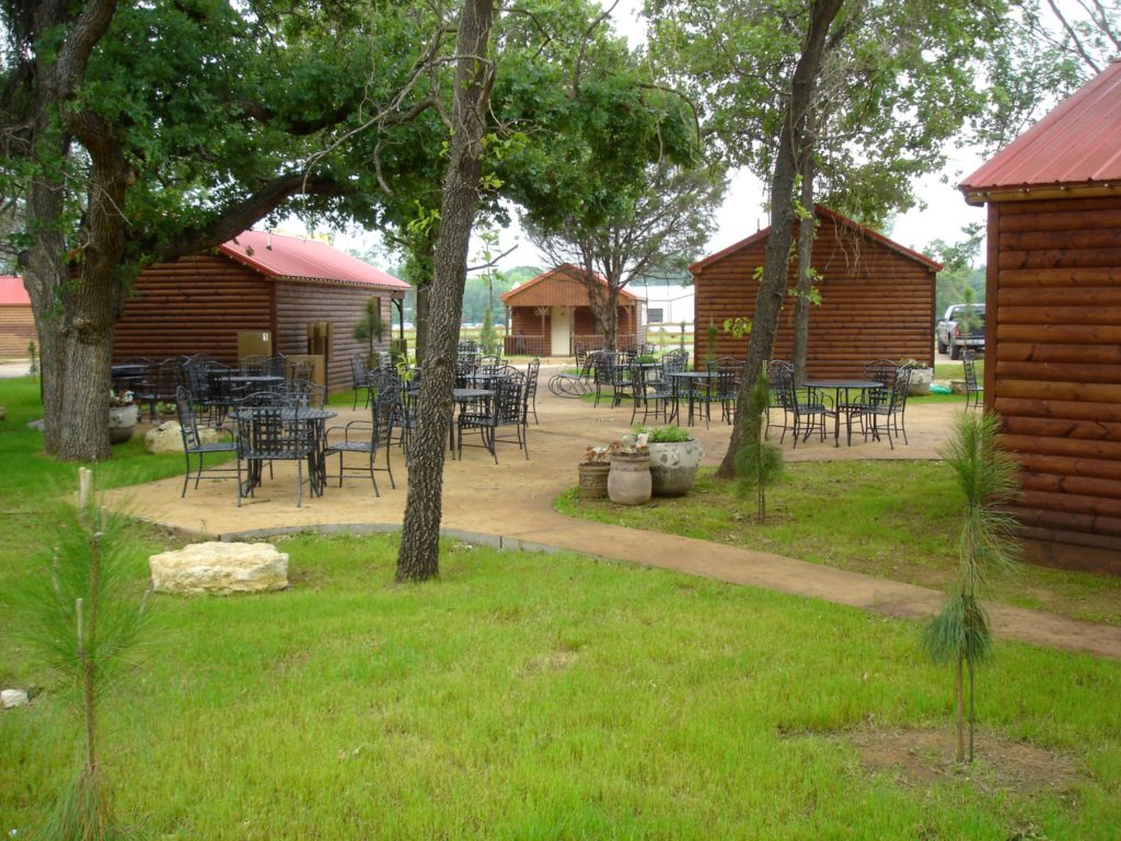
<path id="1" fill-rule="evenodd" d="M 763 265 L 766 240 L 705 266 L 696 276 L 694 358 L 708 353 L 707 327 L 715 324 L 714 355 L 747 355 L 748 338 L 723 331 L 725 318 L 751 318 Z M 813 266 L 822 304 L 809 312 L 806 371 L 810 377 L 859 377 L 874 359 L 934 359 L 934 271 L 882 243 L 837 233 L 822 224 L 814 243 Z M 796 284 L 791 265 L 788 286 Z M 779 316 L 775 359 L 794 353 L 794 299 L 787 297 Z"/>

